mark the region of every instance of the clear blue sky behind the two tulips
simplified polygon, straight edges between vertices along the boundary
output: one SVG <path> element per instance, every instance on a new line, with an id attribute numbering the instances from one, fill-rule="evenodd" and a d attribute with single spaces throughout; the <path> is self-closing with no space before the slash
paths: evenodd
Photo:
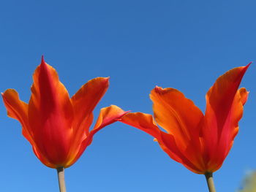
<path id="1" fill-rule="evenodd" d="M 254 0 L 1 1 L 0 91 L 15 88 L 29 101 L 32 74 L 45 55 L 70 96 L 94 77 L 110 77 L 95 118 L 110 104 L 152 114 L 148 94 L 155 85 L 177 88 L 204 112 L 217 77 L 255 61 L 255 9 Z M 214 174 L 218 192 L 236 191 L 256 169 L 255 74 L 252 64 L 241 83 L 249 99 L 233 148 Z M 59 191 L 56 170 L 36 158 L 2 102 L 0 115 L 0 191 Z M 207 191 L 203 175 L 122 123 L 99 131 L 65 174 L 67 191 Z"/>

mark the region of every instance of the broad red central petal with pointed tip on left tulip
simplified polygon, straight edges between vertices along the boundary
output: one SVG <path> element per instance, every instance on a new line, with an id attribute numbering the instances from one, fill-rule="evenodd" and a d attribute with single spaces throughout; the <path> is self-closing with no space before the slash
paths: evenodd
<path id="1" fill-rule="evenodd" d="M 34 142 L 49 162 L 64 166 L 72 135 L 73 111 L 69 94 L 59 81 L 56 70 L 43 58 L 33 79 L 29 126 L 34 133 Z"/>

